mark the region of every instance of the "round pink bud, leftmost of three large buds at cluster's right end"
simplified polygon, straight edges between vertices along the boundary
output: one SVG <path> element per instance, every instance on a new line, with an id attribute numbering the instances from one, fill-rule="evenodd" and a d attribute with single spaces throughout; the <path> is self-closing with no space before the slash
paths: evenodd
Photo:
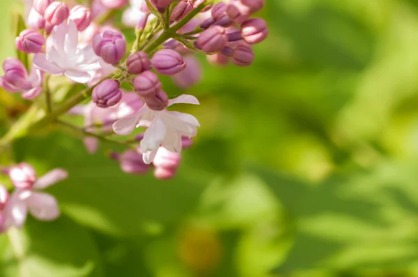
<path id="1" fill-rule="evenodd" d="M 204 52 L 215 53 L 221 51 L 228 42 L 225 28 L 222 26 L 211 26 L 203 31 L 197 39 L 197 44 Z"/>

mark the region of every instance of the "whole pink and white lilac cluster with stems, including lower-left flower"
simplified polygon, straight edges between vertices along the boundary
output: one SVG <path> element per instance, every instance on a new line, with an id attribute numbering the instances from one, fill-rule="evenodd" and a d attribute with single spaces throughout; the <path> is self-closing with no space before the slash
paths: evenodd
<path id="1" fill-rule="evenodd" d="M 3 62 L 0 86 L 22 93 L 27 100 L 45 95 L 46 105 L 34 102 L 34 109 L 45 109 L 42 116 L 22 116 L 27 122 L 17 125 L 27 128 L 28 134 L 50 124 L 75 129 L 83 134 L 91 153 L 98 150 L 100 141 L 123 145 L 127 150 L 109 155 L 122 171 L 145 174 L 153 168 L 155 177 L 162 180 L 176 174 L 180 151 L 192 145 L 200 125 L 188 113 L 167 109 L 174 104 L 199 104 L 199 100 L 193 95 L 170 99 L 159 75 L 171 76 L 187 89 L 201 79 L 196 54 L 207 55 L 210 63 L 248 66 L 254 62 L 251 46 L 268 36 L 265 21 L 251 17 L 263 8 L 264 0 L 216 5 L 209 0 L 93 0 L 86 6 L 75 6 L 73 1 L 26 2 L 30 2 L 28 29 L 15 39 L 20 56 L 26 58 Z M 125 27 L 135 27 L 132 45 L 116 28 L 114 9 L 123 10 Z M 68 86 L 80 83 L 86 89 L 66 95 L 64 102 L 56 101 L 49 80 L 65 82 L 60 76 L 68 79 Z M 85 100 L 90 102 L 82 104 Z M 63 121 L 60 117 L 65 113 L 83 116 L 84 126 Z M 130 135 L 137 128 L 144 130 L 125 140 L 117 136 Z M 13 134 L 0 139 L 0 149 L 13 142 Z M 0 187 L 0 228 L 20 227 L 26 209 L 38 219 L 58 216 L 54 198 L 33 189 L 61 180 L 66 177 L 64 171 L 37 179 L 31 166 L 18 164 L 3 173 L 10 176 L 15 191 L 9 197 Z"/>

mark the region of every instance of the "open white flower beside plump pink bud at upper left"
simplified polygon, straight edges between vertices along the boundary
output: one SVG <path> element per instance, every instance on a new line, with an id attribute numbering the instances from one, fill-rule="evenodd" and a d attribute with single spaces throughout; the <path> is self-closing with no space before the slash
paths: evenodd
<path id="1" fill-rule="evenodd" d="M 33 65 L 49 74 L 64 74 L 77 83 L 90 81 L 93 72 L 100 69 L 99 57 L 91 45 L 80 47 L 75 22 L 55 26 L 51 38 L 52 47 L 47 54 L 36 54 Z"/>

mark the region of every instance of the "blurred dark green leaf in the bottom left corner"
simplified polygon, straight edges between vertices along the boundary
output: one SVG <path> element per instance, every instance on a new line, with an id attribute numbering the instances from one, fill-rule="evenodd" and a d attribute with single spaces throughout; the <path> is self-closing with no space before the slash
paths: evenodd
<path id="1" fill-rule="evenodd" d="M 0 276 L 100 277 L 100 256 L 91 235 L 65 216 L 30 218 L 23 230 L 0 237 Z"/>

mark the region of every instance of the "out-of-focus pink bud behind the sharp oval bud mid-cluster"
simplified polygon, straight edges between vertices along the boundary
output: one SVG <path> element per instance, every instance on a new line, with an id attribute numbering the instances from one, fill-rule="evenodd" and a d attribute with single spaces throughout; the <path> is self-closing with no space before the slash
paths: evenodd
<path id="1" fill-rule="evenodd" d="M 201 80 L 201 65 L 194 56 L 185 56 L 184 61 L 187 67 L 182 72 L 173 75 L 173 81 L 178 87 L 187 89 Z"/>

